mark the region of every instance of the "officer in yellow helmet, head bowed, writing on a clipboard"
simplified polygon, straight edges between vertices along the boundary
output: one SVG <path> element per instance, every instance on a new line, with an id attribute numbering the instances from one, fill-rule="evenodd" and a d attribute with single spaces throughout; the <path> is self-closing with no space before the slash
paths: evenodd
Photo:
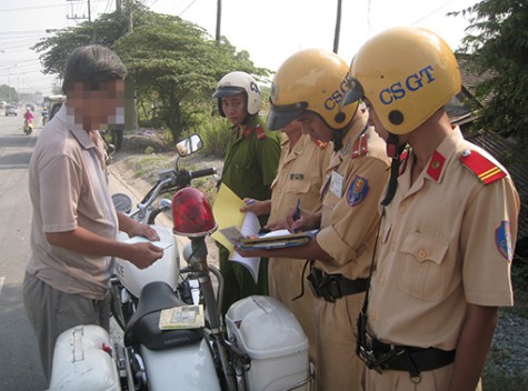
<path id="1" fill-rule="evenodd" d="M 302 210 L 290 228 L 320 227 L 297 248 L 261 255 L 315 260 L 310 284 L 316 301 L 317 388 L 359 390 L 362 363 L 355 354 L 358 317 L 378 228 L 378 200 L 389 173 L 385 142 L 368 126 L 358 103 L 341 108 L 348 66 L 337 54 L 302 50 L 278 69 L 271 86 L 269 129 L 292 120 L 302 131 L 333 142 L 318 213 Z M 248 252 L 250 254 L 250 252 Z"/>

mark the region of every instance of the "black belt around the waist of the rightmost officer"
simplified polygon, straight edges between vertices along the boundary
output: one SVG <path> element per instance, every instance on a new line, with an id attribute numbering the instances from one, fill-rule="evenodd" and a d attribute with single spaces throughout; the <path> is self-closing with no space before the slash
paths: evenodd
<path id="1" fill-rule="evenodd" d="M 371 347 L 373 357 L 380 363 L 379 369 L 407 371 L 411 377 L 418 377 L 422 371 L 432 371 L 452 363 L 457 352 L 437 348 L 390 345 L 376 339 L 371 340 Z"/>

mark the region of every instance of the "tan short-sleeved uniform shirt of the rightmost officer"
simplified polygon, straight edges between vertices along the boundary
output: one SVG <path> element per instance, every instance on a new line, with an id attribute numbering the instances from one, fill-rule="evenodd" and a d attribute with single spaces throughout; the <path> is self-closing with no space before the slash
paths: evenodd
<path id="1" fill-rule="evenodd" d="M 398 179 L 368 308 L 369 330 L 385 342 L 451 350 L 467 303 L 512 305 L 519 198 L 509 176 L 484 184 L 462 164 L 467 151 L 498 166 L 456 128 L 411 187 L 412 153 Z"/>

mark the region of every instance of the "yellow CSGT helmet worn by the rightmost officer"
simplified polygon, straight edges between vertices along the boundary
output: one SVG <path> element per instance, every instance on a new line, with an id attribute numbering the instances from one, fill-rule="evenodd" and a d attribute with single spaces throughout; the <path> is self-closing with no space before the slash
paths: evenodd
<path id="1" fill-rule="evenodd" d="M 392 28 L 371 38 L 355 56 L 351 76 L 343 104 L 367 98 L 392 134 L 411 132 L 461 90 L 454 52 L 424 28 Z"/>

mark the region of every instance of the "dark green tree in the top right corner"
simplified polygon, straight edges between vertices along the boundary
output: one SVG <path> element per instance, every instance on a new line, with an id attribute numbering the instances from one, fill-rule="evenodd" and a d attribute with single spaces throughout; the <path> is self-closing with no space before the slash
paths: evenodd
<path id="1" fill-rule="evenodd" d="M 526 0 L 484 0 L 450 14 L 460 13 L 469 20 L 462 50 L 472 53 L 470 64 L 475 71 L 490 74 L 476 89 L 480 101 L 489 99 L 476 127 L 512 137 L 519 150 L 526 150 L 528 3 Z"/>

